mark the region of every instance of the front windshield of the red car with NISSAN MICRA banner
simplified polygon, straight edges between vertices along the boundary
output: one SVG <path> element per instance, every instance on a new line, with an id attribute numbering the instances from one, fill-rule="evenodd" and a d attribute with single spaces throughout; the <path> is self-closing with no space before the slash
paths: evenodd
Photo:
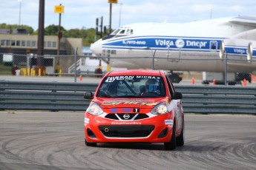
<path id="1" fill-rule="evenodd" d="M 106 77 L 96 94 L 99 98 L 161 98 L 164 96 L 163 78 L 151 75 Z"/>

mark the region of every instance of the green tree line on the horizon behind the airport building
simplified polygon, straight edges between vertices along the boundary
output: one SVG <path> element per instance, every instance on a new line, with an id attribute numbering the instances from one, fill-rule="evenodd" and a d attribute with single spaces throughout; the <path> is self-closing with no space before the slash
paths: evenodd
<path id="1" fill-rule="evenodd" d="M 7 28 L 13 30 L 15 28 L 26 29 L 29 35 L 38 35 L 38 30 L 34 31 L 32 27 L 27 25 L 18 25 L 18 24 L 0 24 L 0 28 Z M 61 32 L 65 38 L 82 38 L 83 46 L 90 46 L 95 41 L 95 29 L 82 27 L 82 29 L 70 29 L 66 30 L 64 27 L 61 27 Z M 58 35 L 59 25 L 51 24 L 45 27 L 45 35 Z M 103 34 L 105 36 L 106 34 Z M 99 39 L 99 35 L 96 35 L 96 39 Z"/>

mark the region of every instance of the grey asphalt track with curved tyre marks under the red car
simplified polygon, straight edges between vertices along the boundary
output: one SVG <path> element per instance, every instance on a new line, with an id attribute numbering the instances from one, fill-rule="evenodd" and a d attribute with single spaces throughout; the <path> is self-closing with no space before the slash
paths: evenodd
<path id="1" fill-rule="evenodd" d="M 186 115 L 186 143 L 84 143 L 83 112 L 0 112 L 0 169 L 256 169 L 255 115 Z"/>

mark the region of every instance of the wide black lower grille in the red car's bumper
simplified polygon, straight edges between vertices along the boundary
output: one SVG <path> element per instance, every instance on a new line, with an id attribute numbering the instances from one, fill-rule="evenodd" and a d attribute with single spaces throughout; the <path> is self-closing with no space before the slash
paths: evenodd
<path id="1" fill-rule="evenodd" d="M 105 137 L 148 137 L 154 125 L 99 126 Z"/>

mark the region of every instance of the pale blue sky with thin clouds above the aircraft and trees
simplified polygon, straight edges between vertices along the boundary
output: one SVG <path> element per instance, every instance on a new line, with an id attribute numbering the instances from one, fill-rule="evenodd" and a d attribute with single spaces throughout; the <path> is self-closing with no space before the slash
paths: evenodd
<path id="1" fill-rule="evenodd" d="M 40 0 L 0 0 L 0 24 L 22 24 L 38 29 Z M 45 27 L 59 25 L 54 7 L 62 4 L 61 25 L 66 30 L 96 27 L 103 16 L 109 26 L 108 0 L 45 0 Z M 209 18 L 256 16 L 255 0 L 118 0 L 112 4 L 111 28 L 137 22 L 188 22 Z"/>

